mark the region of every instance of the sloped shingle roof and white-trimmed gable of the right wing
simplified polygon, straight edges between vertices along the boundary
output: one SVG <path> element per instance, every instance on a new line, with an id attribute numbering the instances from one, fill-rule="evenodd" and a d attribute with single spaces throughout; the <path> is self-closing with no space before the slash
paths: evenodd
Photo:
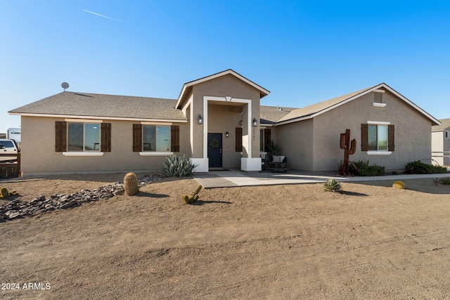
<path id="1" fill-rule="evenodd" d="M 376 86 L 371 86 L 366 89 L 361 89 L 359 91 L 354 91 L 352 93 L 347 93 L 342 96 L 338 96 L 336 98 L 332 98 L 329 100 L 322 101 L 320 103 L 315 103 L 313 105 L 309 105 L 307 107 L 298 108 L 297 110 L 293 110 L 293 112 L 290 112 L 288 115 L 285 115 L 285 117 L 278 120 L 278 125 L 281 124 L 288 124 L 292 122 L 298 122 L 302 121 L 304 119 L 312 119 L 318 115 L 323 114 L 324 112 L 328 112 L 329 110 L 333 110 L 335 107 L 339 107 L 340 105 L 344 105 L 345 103 L 348 103 L 356 98 L 359 98 L 363 95 L 366 95 L 367 93 L 371 93 L 377 89 L 384 88 L 387 91 L 390 91 L 395 96 L 403 100 L 406 104 L 411 105 L 414 109 L 418 110 L 424 117 L 430 119 L 432 124 L 440 124 L 440 122 L 432 117 L 428 112 L 425 112 L 425 110 L 422 110 L 420 107 L 418 107 L 416 104 L 408 100 L 406 97 L 402 96 L 400 93 L 392 89 L 387 84 L 378 84 Z"/>

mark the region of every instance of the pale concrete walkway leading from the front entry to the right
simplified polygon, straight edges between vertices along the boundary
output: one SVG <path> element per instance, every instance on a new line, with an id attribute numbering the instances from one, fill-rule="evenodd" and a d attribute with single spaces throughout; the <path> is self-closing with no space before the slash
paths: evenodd
<path id="1" fill-rule="evenodd" d="M 402 181 L 406 179 L 417 178 L 442 178 L 450 174 L 425 174 L 425 175 L 388 175 L 388 176 L 349 176 L 342 177 L 335 175 L 312 174 L 296 170 L 289 170 L 288 173 L 246 173 L 237 170 L 210 171 L 203 174 L 195 174 L 194 178 L 204 188 L 228 188 L 233 186 L 254 186 L 254 185 L 283 185 L 283 184 L 301 184 L 301 183 L 321 183 L 329 178 L 336 178 L 340 182 L 357 181 Z"/>

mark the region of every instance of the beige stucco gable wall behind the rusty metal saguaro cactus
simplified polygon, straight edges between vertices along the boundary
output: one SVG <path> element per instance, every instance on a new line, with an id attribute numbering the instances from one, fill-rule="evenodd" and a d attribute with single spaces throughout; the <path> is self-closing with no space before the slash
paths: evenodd
<path id="1" fill-rule="evenodd" d="M 356 138 L 356 153 L 350 161 L 368 160 L 369 164 L 384 166 L 387 170 L 404 169 L 416 160 L 430 163 L 431 121 L 390 92 L 383 94 L 386 107 L 374 107 L 373 93 L 336 107 L 314 118 L 314 167 L 311 171 L 338 170 L 344 150 L 339 147 L 340 133 L 350 129 Z M 361 124 L 390 122 L 395 126 L 395 150 L 391 155 L 368 155 L 361 151 Z"/>

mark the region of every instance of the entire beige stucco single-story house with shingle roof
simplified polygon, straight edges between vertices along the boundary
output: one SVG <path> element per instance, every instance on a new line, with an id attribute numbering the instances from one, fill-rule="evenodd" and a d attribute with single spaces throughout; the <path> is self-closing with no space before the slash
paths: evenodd
<path id="1" fill-rule="evenodd" d="M 196 172 L 260 171 L 270 140 L 293 169 L 336 171 L 345 129 L 358 143 L 351 160 L 386 169 L 430 161 L 439 121 L 387 84 L 304 108 L 260 105 L 268 94 L 226 70 L 187 82 L 174 100 L 64 91 L 10 114 L 22 119 L 24 174 L 150 171 L 172 154 Z"/>

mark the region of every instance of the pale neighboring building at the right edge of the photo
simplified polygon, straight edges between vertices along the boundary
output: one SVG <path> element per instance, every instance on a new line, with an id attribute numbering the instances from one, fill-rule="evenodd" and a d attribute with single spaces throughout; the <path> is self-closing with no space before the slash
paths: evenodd
<path id="1" fill-rule="evenodd" d="M 432 159 L 439 166 L 450 166 L 450 119 L 440 119 L 439 122 L 442 124 L 432 126 Z"/>

